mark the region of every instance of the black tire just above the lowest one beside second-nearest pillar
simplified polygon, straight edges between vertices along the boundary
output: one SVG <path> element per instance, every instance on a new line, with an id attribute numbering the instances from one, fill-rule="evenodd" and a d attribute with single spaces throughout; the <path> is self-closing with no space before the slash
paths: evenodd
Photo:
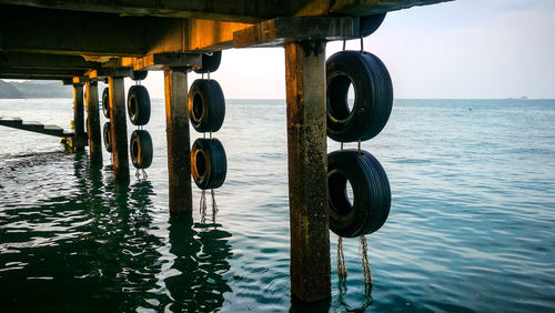
<path id="1" fill-rule="evenodd" d="M 198 132 L 216 132 L 225 118 L 225 98 L 218 81 L 198 79 L 189 90 L 189 119 Z"/>

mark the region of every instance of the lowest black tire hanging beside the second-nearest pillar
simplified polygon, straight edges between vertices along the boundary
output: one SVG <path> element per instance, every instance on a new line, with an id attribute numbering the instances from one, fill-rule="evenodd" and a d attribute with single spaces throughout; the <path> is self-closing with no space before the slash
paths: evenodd
<path id="1" fill-rule="evenodd" d="M 220 140 L 199 138 L 191 149 L 191 173 L 202 190 L 220 188 L 228 173 L 228 158 Z"/>

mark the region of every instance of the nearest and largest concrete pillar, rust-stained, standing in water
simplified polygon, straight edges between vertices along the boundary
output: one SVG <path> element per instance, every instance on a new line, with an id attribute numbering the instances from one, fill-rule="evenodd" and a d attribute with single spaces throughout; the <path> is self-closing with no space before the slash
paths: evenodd
<path id="1" fill-rule="evenodd" d="M 291 290 L 331 297 L 325 111 L 325 42 L 285 44 Z"/>

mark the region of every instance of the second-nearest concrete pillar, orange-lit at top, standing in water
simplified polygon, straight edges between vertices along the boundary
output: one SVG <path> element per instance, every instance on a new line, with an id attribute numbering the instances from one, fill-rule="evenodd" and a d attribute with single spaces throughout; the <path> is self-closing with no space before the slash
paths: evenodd
<path id="1" fill-rule="evenodd" d="M 192 213 L 186 71 L 167 69 L 164 87 L 170 213 Z"/>

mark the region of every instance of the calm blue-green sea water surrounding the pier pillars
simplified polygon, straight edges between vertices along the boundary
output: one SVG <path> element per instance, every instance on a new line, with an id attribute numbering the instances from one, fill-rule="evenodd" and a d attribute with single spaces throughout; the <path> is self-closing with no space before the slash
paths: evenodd
<path id="1" fill-rule="evenodd" d="M 0 115 L 69 128 L 71 102 L 1 100 Z M 305 310 L 290 296 L 284 101 L 228 101 L 215 216 L 198 189 L 192 220 L 169 216 L 162 100 L 145 129 L 149 179 L 114 185 L 107 152 L 91 168 L 56 138 L 0 128 L 0 311 Z M 363 148 L 393 193 L 367 236 L 374 286 L 353 239 L 340 287 L 332 234 L 323 310 L 555 310 L 554 100 L 397 100 Z"/>

